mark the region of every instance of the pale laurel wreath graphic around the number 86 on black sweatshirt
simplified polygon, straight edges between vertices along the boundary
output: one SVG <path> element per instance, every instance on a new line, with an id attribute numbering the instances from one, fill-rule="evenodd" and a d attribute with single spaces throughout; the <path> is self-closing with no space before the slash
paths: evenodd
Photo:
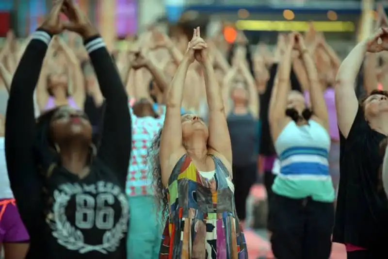
<path id="1" fill-rule="evenodd" d="M 129 210 L 125 195 L 116 196 L 121 204 L 121 217 L 112 229 L 104 233 L 102 243 L 99 245 L 85 243 L 81 230 L 72 226 L 67 220 L 65 209 L 70 200 L 70 196 L 58 190 L 54 191 L 53 196 L 55 202 L 52 209 L 55 213 L 53 214 L 53 218 L 49 219 L 49 226 L 52 229 L 52 235 L 57 239 L 59 244 L 69 250 L 78 250 L 81 254 L 90 251 L 107 254 L 117 249 L 120 240 L 124 237 L 124 233 L 128 229 Z"/>

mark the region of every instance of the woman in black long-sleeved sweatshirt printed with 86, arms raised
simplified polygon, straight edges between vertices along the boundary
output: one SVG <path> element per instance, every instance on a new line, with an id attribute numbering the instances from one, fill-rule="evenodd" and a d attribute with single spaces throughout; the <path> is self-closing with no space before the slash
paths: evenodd
<path id="1" fill-rule="evenodd" d="M 62 24 L 60 13 L 69 18 Z M 87 116 L 69 106 L 35 122 L 32 96 L 54 34 L 79 33 L 106 99 L 101 145 Z M 33 33 L 8 100 L 5 153 L 20 216 L 30 234 L 27 259 L 125 259 L 131 149 L 128 97 L 102 38 L 71 0 L 56 1 Z"/>

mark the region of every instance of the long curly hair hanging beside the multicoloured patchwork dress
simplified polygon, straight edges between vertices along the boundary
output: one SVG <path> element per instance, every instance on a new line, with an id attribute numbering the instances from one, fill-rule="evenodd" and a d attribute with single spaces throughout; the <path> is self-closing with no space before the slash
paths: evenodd
<path id="1" fill-rule="evenodd" d="M 164 187 L 162 183 L 162 168 L 161 162 L 159 159 L 159 150 L 161 146 L 161 136 L 162 129 L 159 130 L 158 134 L 152 140 L 151 146 L 148 148 L 148 159 L 149 172 L 152 177 L 152 187 L 154 189 L 156 204 L 157 204 L 157 213 L 162 212 L 162 222 L 165 220 L 168 212 L 168 198 L 167 198 L 167 188 Z"/>

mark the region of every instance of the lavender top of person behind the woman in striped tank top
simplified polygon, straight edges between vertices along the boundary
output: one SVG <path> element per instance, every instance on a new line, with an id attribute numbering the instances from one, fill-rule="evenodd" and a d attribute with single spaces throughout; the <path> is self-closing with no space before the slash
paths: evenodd
<path id="1" fill-rule="evenodd" d="M 326 88 L 323 92 L 323 98 L 326 103 L 327 113 L 329 113 L 329 134 L 332 140 L 339 141 L 339 131 L 336 112 L 336 99 L 334 89 L 331 87 Z M 305 99 L 307 103 L 310 103 L 310 95 L 306 91 Z"/>

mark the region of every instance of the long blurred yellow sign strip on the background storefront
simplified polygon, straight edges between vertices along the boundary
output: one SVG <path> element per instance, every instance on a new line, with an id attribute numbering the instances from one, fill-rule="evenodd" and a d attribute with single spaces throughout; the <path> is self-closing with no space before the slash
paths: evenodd
<path id="1" fill-rule="evenodd" d="M 315 30 L 318 32 L 354 32 L 355 24 L 350 21 L 315 21 Z M 307 21 L 260 21 L 238 20 L 236 28 L 245 31 L 276 31 L 276 32 L 306 32 Z"/>

